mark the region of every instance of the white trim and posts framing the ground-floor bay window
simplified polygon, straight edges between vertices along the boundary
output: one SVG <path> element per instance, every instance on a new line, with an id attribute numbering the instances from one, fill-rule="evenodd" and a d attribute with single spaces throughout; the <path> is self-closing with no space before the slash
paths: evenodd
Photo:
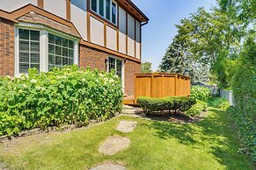
<path id="1" fill-rule="evenodd" d="M 18 29 L 27 29 L 40 32 L 40 72 L 48 72 L 48 33 L 53 33 L 57 36 L 60 36 L 65 39 L 70 39 L 74 41 L 74 64 L 79 66 L 79 39 L 72 37 L 68 34 L 56 31 L 55 29 L 49 28 L 45 25 L 35 25 L 30 23 L 18 23 L 15 25 L 14 34 L 15 34 L 15 68 L 14 75 L 19 77 L 19 36 Z"/>

